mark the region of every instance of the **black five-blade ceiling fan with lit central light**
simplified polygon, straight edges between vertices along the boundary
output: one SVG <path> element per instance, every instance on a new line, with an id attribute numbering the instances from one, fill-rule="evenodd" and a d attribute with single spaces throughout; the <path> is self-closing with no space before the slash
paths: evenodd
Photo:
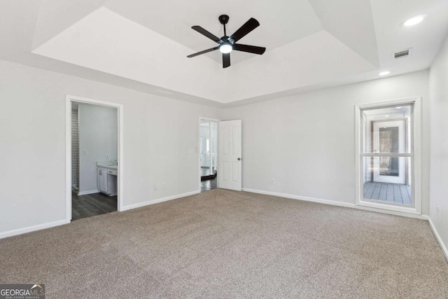
<path id="1" fill-rule="evenodd" d="M 218 18 L 219 22 L 224 26 L 224 36 L 219 39 L 217 36 L 214 36 L 214 34 L 211 34 L 206 29 L 200 27 L 200 26 L 193 26 L 191 28 L 195 29 L 200 34 L 203 34 L 204 36 L 207 36 L 212 41 L 215 41 L 219 44 L 219 46 L 215 48 L 210 48 L 207 50 L 203 50 L 201 52 L 188 55 L 188 58 L 195 57 L 197 55 L 202 55 L 205 53 L 209 53 L 214 50 L 220 50 L 221 53 L 223 53 L 223 68 L 230 67 L 230 52 L 232 50 L 242 51 L 242 52 L 248 52 L 248 53 L 254 53 L 262 55 L 262 53 L 265 53 L 266 48 L 264 47 L 257 47 L 257 46 L 248 46 L 248 45 L 242 45 L 241 43 L 237 43 L 239 39 L 246 36 L 249 32 L 251 32 L 256 27 L 260 26 L 260 23 L 255 20 L 254 18 L 250 18 L 246 23 L 244 23 L 243 26 L 241 26 L 234 34 L 231 36 L 227 36 L 227 33 L 225 32 L 225 25 L 229 21 L 228 15 L 220 15 Z"/>

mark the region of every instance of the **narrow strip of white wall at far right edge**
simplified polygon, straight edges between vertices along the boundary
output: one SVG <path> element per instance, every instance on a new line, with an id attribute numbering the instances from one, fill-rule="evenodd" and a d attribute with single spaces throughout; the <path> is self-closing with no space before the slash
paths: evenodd
<path id="1" fill-rule="evenodd" d="M 448 38 L 430 67 L 429 96 L 429 216 L 444 243 L 448 258 Z"/>

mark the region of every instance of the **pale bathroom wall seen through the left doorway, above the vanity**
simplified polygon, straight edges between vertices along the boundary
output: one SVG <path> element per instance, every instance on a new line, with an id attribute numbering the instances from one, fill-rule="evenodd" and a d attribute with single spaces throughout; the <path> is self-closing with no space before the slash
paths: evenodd
<path id="1" fill-rule="evenodd" d="M 117 160 L 118 111 L 116 108 L 79 104 L 78 113 L 79 191 L 95 191 L 98 190 L 97 161 Z"/>

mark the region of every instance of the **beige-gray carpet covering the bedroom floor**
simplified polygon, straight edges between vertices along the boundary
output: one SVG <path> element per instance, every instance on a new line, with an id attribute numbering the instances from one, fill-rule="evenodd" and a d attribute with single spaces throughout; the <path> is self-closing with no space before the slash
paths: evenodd
<path id="1" fill-rule="evenodd" d="M 0 239 L 47 298 L 448 298 L 428 223 L 229 190 Z"/>

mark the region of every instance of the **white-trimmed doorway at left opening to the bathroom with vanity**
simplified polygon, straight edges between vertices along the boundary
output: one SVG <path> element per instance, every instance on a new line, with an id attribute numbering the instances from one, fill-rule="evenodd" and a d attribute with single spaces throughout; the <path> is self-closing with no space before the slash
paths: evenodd
<path id="1" fill-rule="evenodd" d="M 66 96 L 66 219 L 123 206 L 123 106 Z"/>

